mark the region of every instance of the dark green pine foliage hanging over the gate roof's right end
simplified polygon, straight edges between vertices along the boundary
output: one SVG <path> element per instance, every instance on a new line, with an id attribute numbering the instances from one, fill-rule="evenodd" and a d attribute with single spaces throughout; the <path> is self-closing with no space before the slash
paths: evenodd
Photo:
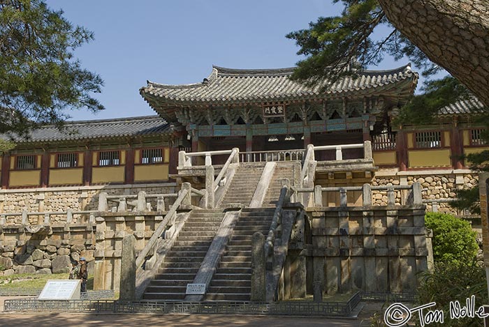
<path id="1" fill-rule="evenodd" d="M 326 89 L 329 83 L 340 77 L 355 76 L 356 71 L 377 65 L 385 55 L 394 56 L 395 59 L 407 56 L 416 67 L 421 68 L 421 73 L 428 79 L 423 86 L 423 94 L 414 96 L 407 105 L 400 108 L 393 121 L 397 126 L 430 123 L 442 107 L 453 104 L 456 100 L 472 97 L 467 87 L 451 75 L 439 80 L 432 79 L 442 68 L 430 61 L 418 46 L 389 22 L 379 0 L 333 2 L 344 5 L 341 15 L 319 17 L 316 22 L 309 24 L 309 29 L 294 31 L 286 36 L 295 40 L 300 47 L 298 54 L 305 56 L 305 59 L 298 61 L 298 68 L 292 79 L 308 85 L 321 85 Z M 391 6 L 395 6 L 393 2 L 391 1 Z M 443 1 L 438 1 L 441 2 Z M 483 6 L 487 7 L 489 13 L 489 5 Z M 388 32 L 382 33 L 384 38 L 372 38 L 372 33 L 379 30 Z M 439 39 L 442 40 L 443 36 L 437 36 L 437 40 Z M 431 38 L 426 42 L 431 42 Z M 481 115 L 481 119 L 489 128 L 489 109 L 483 109 L 483 114 L 485 115 Z M 489 141 L 487 135 L 486 139 Z M 477 156 L 473 154 L 467 159 L 479 162 L 479 171 L 489 170 L 489 161 L 476 159 Z M 478 210 L 478 203 L 474 202 L 476 190 L 460 191 L 458 194 L 461 201 L 456 202 L 455 206 L 470 208 L 474 212 Z M 469 195 L 472 197 L 469 198 Z"/>

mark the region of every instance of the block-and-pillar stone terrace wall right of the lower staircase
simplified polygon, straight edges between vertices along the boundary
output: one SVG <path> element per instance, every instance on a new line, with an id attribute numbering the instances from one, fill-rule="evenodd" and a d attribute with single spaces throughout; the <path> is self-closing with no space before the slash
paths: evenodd
<path id="1" fill-rule="evenodd" d="M 414 292 L 428 269 L 425 206 L 314 208 L 314 284 L 326 294 L 349 291 Z"/>

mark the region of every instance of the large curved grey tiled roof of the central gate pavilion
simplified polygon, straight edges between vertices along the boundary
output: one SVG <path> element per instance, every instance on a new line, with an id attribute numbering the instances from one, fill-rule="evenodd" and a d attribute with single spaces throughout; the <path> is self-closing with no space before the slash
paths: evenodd
<path id="1" fill-rule="evenodd" d="M 418 74 L 408 64 L 393 70 L 363 70 L 358 77 L 345 77 L 326 91 L 309 87 L 289 77 L 295 68 L 231 69 L 212 66 L 203 82 L 168 85 L 147 82 L 140 94 L 168 121 L 178 107 L 206 107 L 264 102 L 328 100 L 341 97 L 384 96 L 401 105 L 412 95 Z"/>

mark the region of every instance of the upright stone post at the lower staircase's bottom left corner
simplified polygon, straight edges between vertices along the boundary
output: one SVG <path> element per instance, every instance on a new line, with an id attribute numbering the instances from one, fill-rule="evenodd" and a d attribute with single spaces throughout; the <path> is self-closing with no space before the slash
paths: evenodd
<path id="1" fill-rule="evenodd" d="M 136 300 L 136 254 L 134 246 L 136 238 L 133 235 L 124 236 L 122 240 L 121 280 L 119 300 Z"/>

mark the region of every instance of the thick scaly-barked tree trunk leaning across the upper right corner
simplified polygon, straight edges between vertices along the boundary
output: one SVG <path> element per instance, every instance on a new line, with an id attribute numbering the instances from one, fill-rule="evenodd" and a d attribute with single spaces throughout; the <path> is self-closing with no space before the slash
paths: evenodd
<path id="1" fill-rule="evenodd" d="M 489 0 L 379 0 L 388 20 L 489 107 Z"/>

